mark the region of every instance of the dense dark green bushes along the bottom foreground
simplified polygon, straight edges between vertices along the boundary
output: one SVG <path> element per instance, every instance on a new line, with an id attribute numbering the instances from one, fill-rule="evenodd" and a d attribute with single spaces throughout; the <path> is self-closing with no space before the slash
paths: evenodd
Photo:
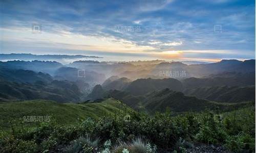
<path id="1" fill-rule="evenodd" d="M 176 116 L 170 112 L 154 116 L 134 113 L 130 122 L 124 121 L 123 115 L 116 115 L 97 120 L 88 118 L 74 126 L 54 122 L 31 129 L 15 126 L 0 134 L 0 152 L 54 152 L 63 148 L 67 152 L 155 152 L 152 144 L 160 152 L 174 149 L 181 152 L 189 147 L 183 141 L 253 152 L 255 111 L 245 108 L 222 114 L 208 111 Z"/>

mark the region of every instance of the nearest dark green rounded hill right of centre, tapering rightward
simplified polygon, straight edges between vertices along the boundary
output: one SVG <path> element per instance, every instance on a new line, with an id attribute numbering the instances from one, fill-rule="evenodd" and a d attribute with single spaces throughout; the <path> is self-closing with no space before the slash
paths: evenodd
<path id="1" fill-rule="evenodd" d="M 194 96 L 185 96 L 182 92 L 172 91 L 169 89 L 163 89 L 155 91 L 145 95 L 142 105 L 148 112 L 160 111 L 164 112 L 166 109 L 169 109 L 173 112 L 200 112 L 206 109 L 215 110 L 215 109 L 231 109 L 234 107 L 250 104 L 251 103 L 241 103 L 241 104 L 223 104 L 216 103 L 213 101 L 208 101 L 204 99 L 198 99 Z"/>

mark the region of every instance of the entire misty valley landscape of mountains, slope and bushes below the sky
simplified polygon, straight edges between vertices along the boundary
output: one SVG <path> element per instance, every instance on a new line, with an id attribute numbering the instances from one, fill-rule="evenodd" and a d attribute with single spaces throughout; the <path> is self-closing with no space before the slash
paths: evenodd
<path id="1" fill-rule="evenodd" d="M 236 151 L 234 139 L 251 151 L 252 61 L 0 62 L 0 148 L 15 152 L 15 143 L 32 146 L 31 152 L 75 152 L 85 149 L 78 143 L 95 139 L 89 152 L 106 141 L 118 152 L 136 143 L 146 147 L 145 140 L 159 152 L 193 150 L 198 143 Z"/>

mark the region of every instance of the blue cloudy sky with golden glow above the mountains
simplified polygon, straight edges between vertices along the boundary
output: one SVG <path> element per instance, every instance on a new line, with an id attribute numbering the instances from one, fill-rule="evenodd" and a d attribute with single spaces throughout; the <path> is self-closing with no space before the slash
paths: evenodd
<path id="1" fill-rule="evenodd" d="M 0 1 L 0 53 L 255 59 L 255 1 Z"/>

